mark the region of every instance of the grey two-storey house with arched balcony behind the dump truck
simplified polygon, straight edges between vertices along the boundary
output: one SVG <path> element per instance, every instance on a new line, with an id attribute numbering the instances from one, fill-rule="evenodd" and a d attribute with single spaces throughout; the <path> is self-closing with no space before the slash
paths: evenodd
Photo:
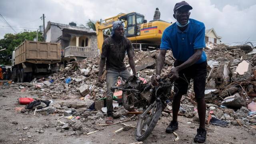
<path id="1" fill-rule="evenodd" d="M 61 43 L 64 64 L 98 54 L 96 31 L 83 25 L 48 22 L 45 32 L 46 42 Z"/>

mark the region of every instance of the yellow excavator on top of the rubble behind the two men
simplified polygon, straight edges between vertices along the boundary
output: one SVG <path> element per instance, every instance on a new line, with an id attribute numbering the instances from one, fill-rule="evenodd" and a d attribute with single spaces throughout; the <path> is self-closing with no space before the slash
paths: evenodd
<path id="1" fill-rule="evenodd" d="M 124 22 L 126 37 L 132 41 L 133 45 L 139 46 L 140 50 L 142 46 L 158 48 L 164 29 L 172 24 L 160 19 L 147 22 L 144 19 L 144 15 L 136 12 L 129 14 L 120 13 L 117 16 L 97 21 L 95 26 L 100 53 L 104 41 L 104 30 L 112 28 L 112 24 L 116 20 Z"/>

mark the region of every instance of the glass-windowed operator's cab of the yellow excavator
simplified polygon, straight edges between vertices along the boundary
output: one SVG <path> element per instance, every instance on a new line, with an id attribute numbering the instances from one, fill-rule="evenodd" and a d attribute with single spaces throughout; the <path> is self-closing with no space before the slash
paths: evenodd
<path id="1" fill-rule="evenodd" d="M 121 16 L 119 19 L 126 21 L 126 24 L 127 24 L 126 31 L 125 31 L 126 37 L 140 35 L 140 32 L 138 31 L 138 29 L 140 28 L 141 24 L 146 23 L 146 20 L 144 20 L 144 15 L 136 12 L 132 12 L 124 16 Z"/>

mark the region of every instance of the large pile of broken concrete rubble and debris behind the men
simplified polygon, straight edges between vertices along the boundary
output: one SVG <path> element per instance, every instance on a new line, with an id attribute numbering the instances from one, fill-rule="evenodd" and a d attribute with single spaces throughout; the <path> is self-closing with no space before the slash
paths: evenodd
<path id="1" fill-rule="evenodd" d="M 218 125 L 222 120 L 222 126 L 226 124 L 240 125 L 244 127 L 256 125 L 256 60 L 248 45 L 227 46 L 225 44 L 208 44 L 205 52 L 208 62 L 208 75 L 206 81 L 205 99 L 208 114 L 208 123 Z M 159 50 L 135 51 L 135 64 L 138 76 L 150 81 L 155 74 L 156 58 Z M 249 53 L 250 52 L 250 53 Z M 81 61 L 70 62 L 60 72 L 51 74 L 47 78 L 34 79 L 30 83 L 18 84 L 22 91 L 37 90 L 38 96 L 46 99 L 72 99 L 80 98 L 80 104 L 54 103 L 37 112 L 41 114 L 59 113 L 64 118 L 70 119 L 68 123 L 60 122 L 57 130 L 72 129 L 72 134 L 88 133 L 101 130 L 95 126 L 103 120 L 104 114 L 100 108 L 96 108 L 97 101 L 105 97 L 106 83 L 98 82 L 100 56 L 86 58 Z M 167 74 L 172 67 L 175 58 L 171 51 L 166 52 L 162 75 Z M 124 62 L 128 70 L 131 70 L 128 57 Z M 105 76 L 106 72 L 103 74 Z M 90 104 L 94 102 L 98 111 L 88 111 Z M 102 103 L 102 102 L 99 102 Z M 103 105 L 103 104 L 102 104 Z M 122 107 L 117 110 L 118 116 L 123 116 Z M 163 116 L 170 116 L 172 112 L 171 102 L 162 112 Z M 196 100 L 193 91 L 193 82 L 190 81 L 188 94 L 182 97 L 179 115 L 192 118 L 192 122 L 199 122 Z M 210 118 L 214 118 L 210 121 Z M 80 123 L 83 123 L 82 126 Z M 191 123 L 191 122 L 190 122 Z"/>

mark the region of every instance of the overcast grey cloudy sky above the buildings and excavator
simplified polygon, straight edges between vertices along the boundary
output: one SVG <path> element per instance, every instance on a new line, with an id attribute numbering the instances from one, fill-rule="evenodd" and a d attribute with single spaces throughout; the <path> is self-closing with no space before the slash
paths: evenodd
<path id="1" fill-rule="evenodd" d="M 173 8 L 180 0 L 0 0 L 0 14 L 16 32 L 36 30 L 48 21 L 86 24 L 118 13 L 138 12 L 152 20 L 156 7 L 162 20 L 175 22 Z M 186 0 L 193 9 L 190 18 L 204 22 L 206 29 L 214 28 L 222 42 L 256 42 L 256 0 Z M 14 33 L 0 18 L 0 39 Z"/>

